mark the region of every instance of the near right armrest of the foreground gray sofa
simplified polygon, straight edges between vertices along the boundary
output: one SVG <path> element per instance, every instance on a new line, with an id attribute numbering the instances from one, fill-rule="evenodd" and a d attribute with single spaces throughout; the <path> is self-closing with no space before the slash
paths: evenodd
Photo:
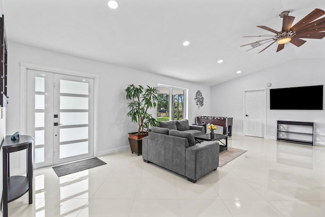
<path id="1" fill-rule="evenodd" d="M 185 176 L 197 180 L 219 166 L 219 143 L 205 141 L 186 148 Z"/>

